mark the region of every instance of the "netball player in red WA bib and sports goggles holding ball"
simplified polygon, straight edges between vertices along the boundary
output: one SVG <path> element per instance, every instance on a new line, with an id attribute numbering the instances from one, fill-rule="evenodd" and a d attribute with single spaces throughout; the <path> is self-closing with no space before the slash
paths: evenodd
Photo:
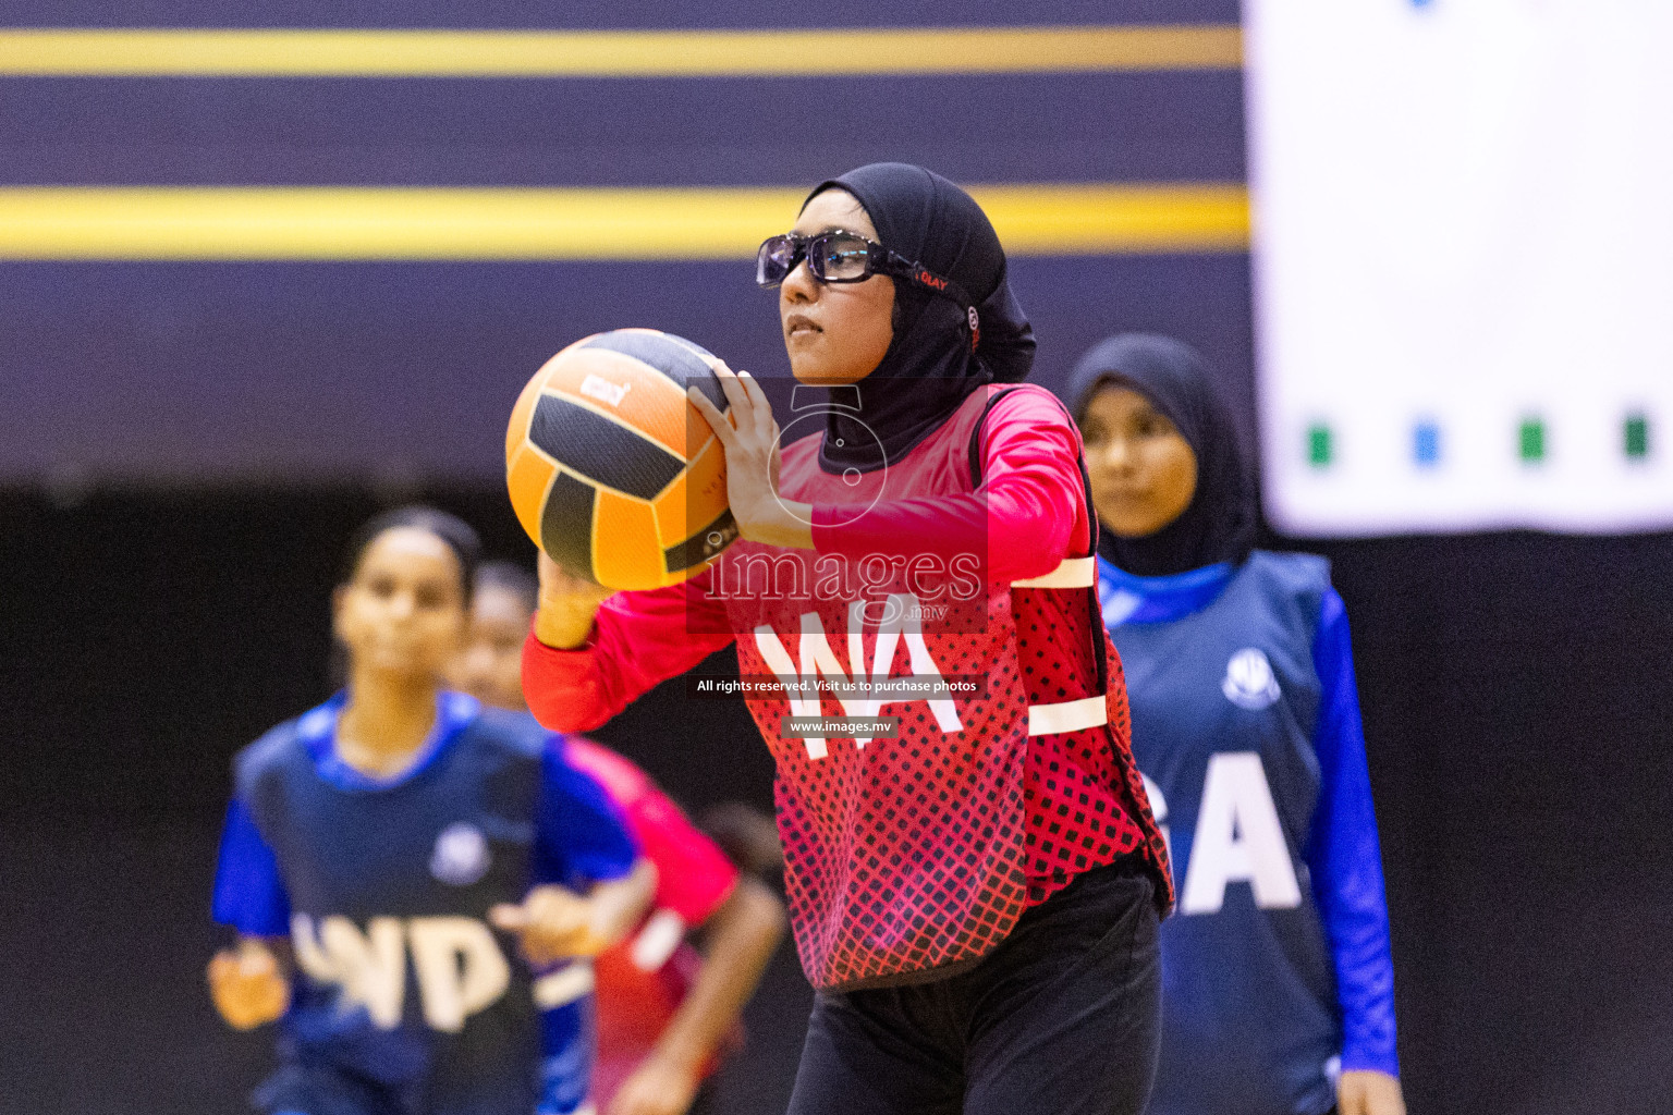
<path id="1" fill-rule="evenodd" d="M 820 991 L 795 1115 L 1136 1113 L 1166 849 L 1079 433 L 1012 386 L 1034 338 L 999 239 L 952 182 L 873 164 L 815 189 L 756 277 L 798 393 L 830 389 L 816 421 L 781 430 L 728 369 L 729 415 L 693 393 L 741 540 L 607 600 L 544 562 L 529 704 L 586 729 L 736 642 Z"/>

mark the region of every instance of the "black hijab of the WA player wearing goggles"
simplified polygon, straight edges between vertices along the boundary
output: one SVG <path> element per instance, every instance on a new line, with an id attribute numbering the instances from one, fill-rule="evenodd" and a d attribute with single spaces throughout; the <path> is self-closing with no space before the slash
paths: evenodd
<path id="1" fill-rule="evenodd" d="M 883 247 L 952 279 L 975 299 L 979 344 L 950 298 L 895 279 L 895 336 L 858 386 L 858 408 L 831 408 L 820 445 L 826 471 L 872 471 L 900 460 L 984 383 L 1016 383 L 1034 363 L 1034 331 L 1005 283 L 1005 251 L 969 194 L 932 171 L 873 162 L 821 182 L 853 194 Z M 801 202 L 806 206 L 806 202 Z M 850 406 L 853 391 L 833 393 Z M 872 435 L 877 435 L 875 438 Z M 882 443 L 882 451 L 878 451 Z"/>

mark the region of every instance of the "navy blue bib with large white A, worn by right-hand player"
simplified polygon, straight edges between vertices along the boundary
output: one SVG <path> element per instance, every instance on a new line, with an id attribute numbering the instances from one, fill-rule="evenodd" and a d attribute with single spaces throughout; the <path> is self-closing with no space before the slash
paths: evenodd
<path id="1" fill-rule="evenodd" d="M 1141 607 L 1123 620 L 1106 593 L 1106 617 L 1123 620 L 1111 639 L 1133 754 L 1178 889 L 1161 929 L 1151 1115 L 1317 1115 L 1335 1103 L 1335 976 L 1303 858 L 1320 792 L 1313 637 L 1328 583 L 1322 558 L 1256 552 L 1179 619 L 1144 622 Z"/>

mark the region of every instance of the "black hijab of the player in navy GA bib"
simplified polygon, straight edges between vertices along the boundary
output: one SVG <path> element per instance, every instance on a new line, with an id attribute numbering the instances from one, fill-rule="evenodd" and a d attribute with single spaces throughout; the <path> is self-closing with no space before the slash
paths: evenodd
<path id="1" fill-rule="evenodd" d="M 1213 374 L 1188 344 L 1123 333 L 1094 344 L 1069 376 L 1076 420 L 1103 386 L 1133 388 L 1179 430 L 1196 455 L 1196 495 L 1179 518 L 1143 538 L 1099 530 L 1097 552 L 1136 577 L 1241 563 L 1255 545 L 1255 475 Z"/>

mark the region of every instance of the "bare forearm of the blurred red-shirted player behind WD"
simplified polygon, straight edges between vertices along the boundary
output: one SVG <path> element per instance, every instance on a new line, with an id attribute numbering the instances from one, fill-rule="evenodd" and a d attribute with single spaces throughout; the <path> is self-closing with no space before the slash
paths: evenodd
<path id="1" fill-rule="evenodd" d="M 709 918 L 703 968 L 652 1056 L 696 1073 L 738 1023 L 785 936 L 785 904 L 763 883 L 750 876 L 738 879 Z"/>

